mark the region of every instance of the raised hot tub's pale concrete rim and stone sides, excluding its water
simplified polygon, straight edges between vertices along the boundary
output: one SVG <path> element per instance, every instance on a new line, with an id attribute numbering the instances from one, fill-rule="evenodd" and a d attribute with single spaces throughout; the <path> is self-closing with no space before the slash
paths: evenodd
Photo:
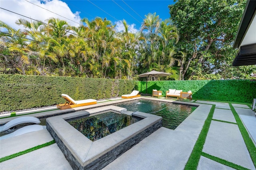
<path id="1" fill-rule="evenodd" d="M 94 142 L 66 121 L 107 110 L 120 114 L 132 114 L 142 120 Z M 72 168 L 80 170 L 102 169 L 160 127 L 162 127 L 162 117 L 160 116 L 143 112 L 132 113 L 117 106 L 83 110 L 46 119 L 47 130 L 55 139 L 66 159 Z"/>

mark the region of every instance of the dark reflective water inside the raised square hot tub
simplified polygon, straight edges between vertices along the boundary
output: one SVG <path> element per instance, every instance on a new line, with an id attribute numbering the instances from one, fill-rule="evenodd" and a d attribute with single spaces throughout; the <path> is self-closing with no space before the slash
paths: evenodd
<path id="1" fill-rule="evenodd" d="M 66 121 L 88 139 L 96 141 L 139 120 L 141 120 L 141 118 L 110 111 L 90 117 Z"/>

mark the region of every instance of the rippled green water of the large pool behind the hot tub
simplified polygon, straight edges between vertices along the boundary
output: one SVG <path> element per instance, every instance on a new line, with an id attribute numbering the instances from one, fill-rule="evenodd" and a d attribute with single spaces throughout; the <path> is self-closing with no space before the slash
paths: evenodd
<path id="1" fill-rule="evenodd" d="M 116 106 L 126 108 L 132 112 L 140 111 L 161 116 L 163 118 L 162 126 L 172 130 L 176 129 L 197 108 L 197 106 L 186 104 L 145 99 L 122 102 L 116 104 Z"/>

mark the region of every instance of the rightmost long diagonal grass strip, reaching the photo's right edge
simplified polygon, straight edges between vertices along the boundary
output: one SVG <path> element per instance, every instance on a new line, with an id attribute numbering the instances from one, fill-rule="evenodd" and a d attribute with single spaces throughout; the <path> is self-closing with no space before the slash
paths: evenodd
<path id="1" fill-rule="evenodd" d="M 232 106 L 231 103 L 229 103 L 229 106 L 231 108 L 231 111 L 236 119 L 236 122 L 238 124 L 238 128 L 244 138 L 244 142 L 246 144 L 246 147 L 250 153 L 250 156 L 252 158 L 252 162 L 254 164 L 254 166 L 256 167 L 256 147 L 254 145 L 254 143 L 252 142 L 252 139 L 250 138 L 246 128 L 244 127 L 244 124 L 242 122 L 242 120 L 239 118 L 239 115 L 237 114 L 235 108 Z"/>

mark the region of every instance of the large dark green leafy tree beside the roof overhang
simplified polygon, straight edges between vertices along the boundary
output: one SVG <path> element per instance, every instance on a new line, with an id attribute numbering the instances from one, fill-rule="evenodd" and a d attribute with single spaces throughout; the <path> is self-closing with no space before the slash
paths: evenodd
<path id="1" fill-rule="evenodd" d="M 179 49 L 186 52 L 183 76 L 190 78 L 245 78 L 255 66 L 232 67 L 232 48 L 246 0 L 178 0 L 170 5 L 177 27 Z M 187 67 L 187 66 L 186 66 Z M 187 72 L 188 71 L 188 72 Z M 184 78 L 184 77 L 183 77 Z"/>

